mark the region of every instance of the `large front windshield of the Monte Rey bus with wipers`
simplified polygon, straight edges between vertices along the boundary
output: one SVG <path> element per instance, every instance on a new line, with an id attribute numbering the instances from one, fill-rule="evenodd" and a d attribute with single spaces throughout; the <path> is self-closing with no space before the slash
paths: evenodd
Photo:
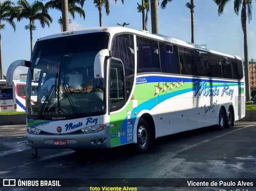
<path id="1" fill-rule="evenodd" d="M 105 111 L 105 80 L 94 79 L 94 58 L 108 48 L 106 33 L 38 41 L 27 82 L 27 115 L 54 118 L 100 115 Z M 32 81 L 38 80 L 37 101 Z"/>

